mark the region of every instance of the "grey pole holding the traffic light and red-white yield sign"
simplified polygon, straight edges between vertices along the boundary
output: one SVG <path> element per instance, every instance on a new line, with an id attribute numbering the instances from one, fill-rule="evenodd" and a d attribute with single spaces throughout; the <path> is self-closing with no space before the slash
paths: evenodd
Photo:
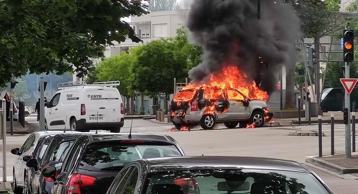
<path id="1" fill-rule="evenodd" d="M 349 29 L 349 24 L 347 23 L 346 29 Z M 346 62 L 345 66 L 345 78 L 350 77 L 349 72 L 349 62 Z M 351 143 L 350 143 L 350 95 L 347 92 L 344 92 L 344 99 L 345 99 L 345 108 L 348 108 L 348 123 L 346 124 L 346 158 L 351 157 Z"/>

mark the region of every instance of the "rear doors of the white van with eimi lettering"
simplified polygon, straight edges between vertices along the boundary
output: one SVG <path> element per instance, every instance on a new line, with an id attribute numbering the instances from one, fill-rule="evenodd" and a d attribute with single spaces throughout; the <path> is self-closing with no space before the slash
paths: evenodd
<path id="1" fill-rule="evenodd" d="M 122 101 L 116 88 L 86 88 L 83 97 L 86 114 L 81 118 L 87 123 L 96 123 L 97 119 L 98 123 L 120 122 Z"/>

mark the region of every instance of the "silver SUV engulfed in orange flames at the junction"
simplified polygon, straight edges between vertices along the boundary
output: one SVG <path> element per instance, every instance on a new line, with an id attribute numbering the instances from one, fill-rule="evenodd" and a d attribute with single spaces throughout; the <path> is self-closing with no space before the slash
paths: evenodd
<path id="1" fill-rule="evenodd" d="M 208 84 L 189 84 L 174 96 L 171 118 L 178 130 L 191 125 L 209 130 L 217 123 L 252 128 L 269 122 L 273 113 L 267 109 L 267 93 L 255 82 L 248 84 L 237 67 L 227 67 L 223 74 L 212 75 Z"/>

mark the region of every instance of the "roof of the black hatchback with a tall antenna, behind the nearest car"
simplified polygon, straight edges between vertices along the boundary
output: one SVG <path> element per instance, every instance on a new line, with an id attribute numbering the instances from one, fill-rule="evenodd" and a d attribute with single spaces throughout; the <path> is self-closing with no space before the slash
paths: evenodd
<path id="1" fill-rule="evenodd" d="M 129 133 L 102 133 L 102 134 L 89 134 L 91 136 L 91 142 L 98 141 L 111 141 L 111 140 L 122 140 L 122 139 L 130 139 Z M 131 139 L 150 139 L 150 140 L 158 140 L 158 141 L 167 141 L 172 142 L 170 138 L 166 135 L 160 134 L 150 134 L 150 133 L 132 133 Z"/>

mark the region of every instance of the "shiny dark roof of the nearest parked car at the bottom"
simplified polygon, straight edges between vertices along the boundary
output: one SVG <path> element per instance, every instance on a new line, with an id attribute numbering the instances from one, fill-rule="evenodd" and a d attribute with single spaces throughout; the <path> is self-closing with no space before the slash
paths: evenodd
<path id="1" fill-rule="evenodd" d="M 146 159 L 151 172 L 161 172 L 182 169 L 212 169 L 243 168 L 243 169 L 267 169 L 278 171 L 294 171 L 309 173 L 307 169 L 296 161 L 275 158 L 238 157 L 238 156 L 190 156 L 172 158 Z"/>

